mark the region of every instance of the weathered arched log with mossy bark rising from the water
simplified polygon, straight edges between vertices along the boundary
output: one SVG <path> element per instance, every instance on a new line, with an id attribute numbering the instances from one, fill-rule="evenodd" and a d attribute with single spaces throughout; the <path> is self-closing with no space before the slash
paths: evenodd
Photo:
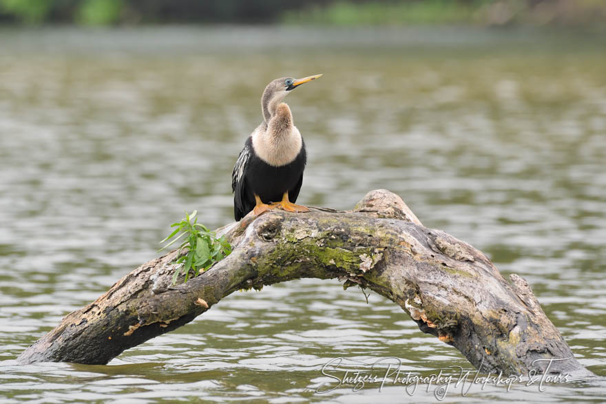
<path id="1" fill-rule="evenodd" d="M 171 286 L 176 251 L 118 281 L 26 349 L 19 361 L 104 364 L 243 288 L 338 278 L 391 299 L 420 330 L 452 345 L 482 372 L 589 374 L 574 359 L 530 286 L 508 283 L 480 251 L 424 227 L 399 196 L 371 191 L 353 211 L 249 214 L 219 230 L 231 255 Z"/>

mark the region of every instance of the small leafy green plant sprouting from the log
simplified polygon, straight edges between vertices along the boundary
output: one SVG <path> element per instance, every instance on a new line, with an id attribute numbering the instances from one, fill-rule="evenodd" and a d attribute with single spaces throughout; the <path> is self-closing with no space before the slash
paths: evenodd
<path id="1" fill-rule="evenodd" d="M 168 248 L 182 237 L 186 237 L 185 241 L 179 246 L 178 258 L 171 262 L 171 264 L 183 264 L 182 266 L 178 266 L 173 275 L 173 285 L 176 284 L 180 273 L 185 275 L 185 282 L 187 282 L 191 273 L 193 273 L 192 277 L 197 277 L 200 272 L 204 272 L 215 262 L 220 261 L 231 253 L 231 244 L 225 240 L 224 236 L 217 238 L 214 231 L 209 231 L 204 224 L 198 223 L 197 218 L 194 220 L 196 213 L 198 211 L 194 211 L 189 215 L 186 211 L 184 219 L 171 224 L 171 227 L 176 227 L 176 229 L 160 242 L 164 243 L 173 239 L 160 248 L 158 252 Z M 194 220 L 194 222 L 192 223 L 191 220 Z M 181 251 L 184 248 L 187 248 L 187 254 L 182 255 Z"/>

